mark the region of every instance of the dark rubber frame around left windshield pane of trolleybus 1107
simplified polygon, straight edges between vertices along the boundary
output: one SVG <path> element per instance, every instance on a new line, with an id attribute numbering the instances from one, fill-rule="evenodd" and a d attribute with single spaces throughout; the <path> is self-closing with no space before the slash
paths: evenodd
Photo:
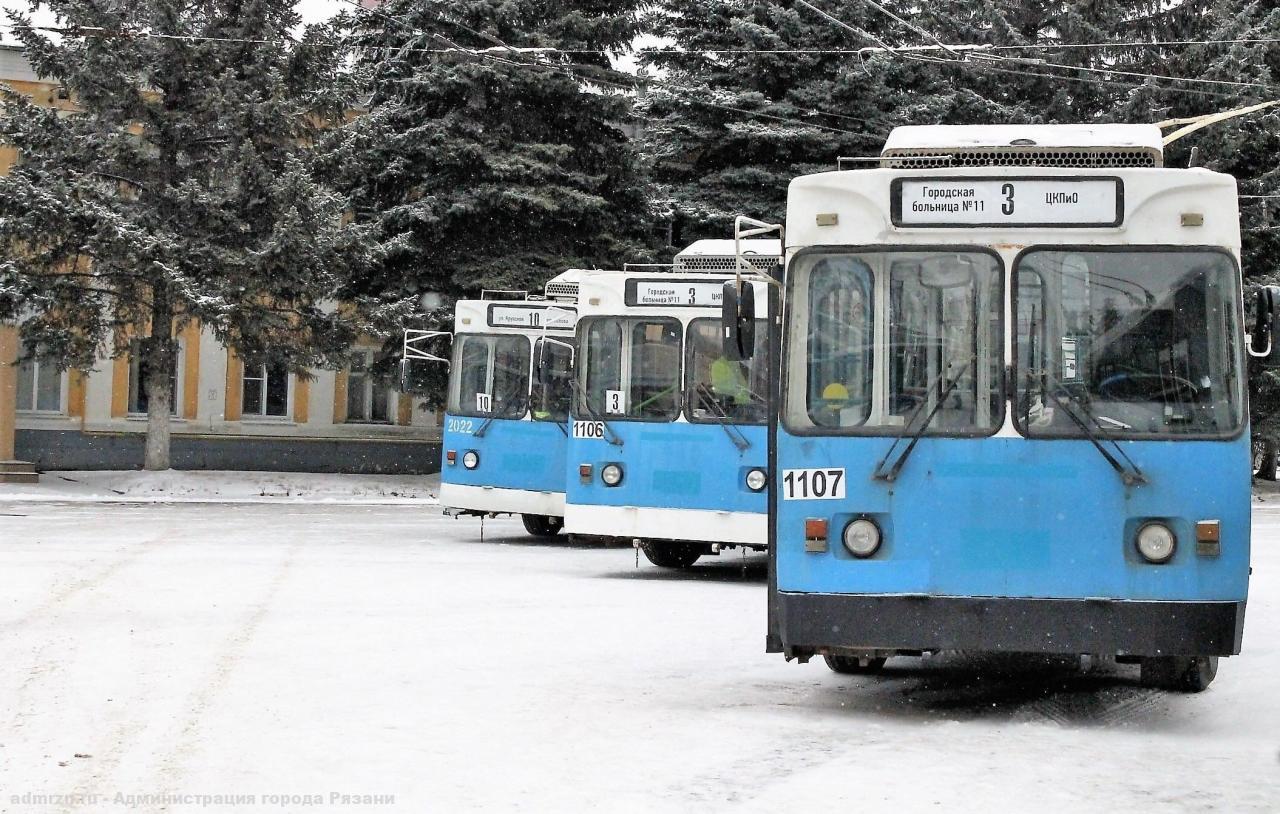
<path id="1" fill-rule="evenodd" d="M 1006 397 L 1006 392 L 1005 392 L 1005 389 L 1006 389 L 1005 376 L 1006 376 L 1006 371 L 1009 369 L 1009 343 L 1006 342 L 1006 338 L 1009 335 L 1009 326 L 1007 326 L 1009 325 L 1009 314 L 1007 314 L 1007 307 L 1006 307 L 1006 305 L 1007 305 L 1006 298 L 1007 298 L 1007 294 L 1009 294 L 1009 291 L 1010 291 L 1010 287 L 1009 287 L 1010 274 L 1009 274 L 1009 265 L 1005 264 L 1004 256 L 1001 256 L 1001 253 L 996 248 L 993 248 L 991 246 L 980 246 L 980 244 L 972 244 L 972 243 L 820 244 L 820 246 L 806 246 L 804 248 L 797 250 L 795 253 L 792 253 L 788 257 L 788 261 L 786 264 L 786 308 L 785 308 L 786 316 L 785 316 L 785 320 L 783 320 L 783 338 L 782 338 L 782 349 L 781 349 L 781 356 L 782 356 L 781 361 L 782 361 L 782 363 L 780 366 L 780 370 L 781 370 L 781 379 L 780 379 L 780 383 L 781 383 L 780 384 L 781 398 L 778 399 L 778 421 L 780 421 L 782 429 L 785 429 L 790 435 L 813 436 L 813 438 L 909 438 L 911 435 L 911 433 L 909 433 L 909 430 L 911 427 L 909 427 L 906 424 L 900 425 L 900 426 L 895 426 L 895 425 L 868 426 L 865 422 L 863 422 L 863 424 L 856 425 L 856 426 L 829 427 L 829 426 L 817 426 L 817 425 L 799 424 L 799 422 L 796 422 L 796 421 L 792 420 L 792 416 L 794 415 L 799 415 L 800 412 L 804 412 L 804 415 L 808 415 L 808 406 L 806 404 L 801 404 L 801 408 L 797 411 L 797 410 L 794 408 L 794 403 L 792 403 L 792 379 L 791 379 L 792 356 L 796 353 L 796 337 L 795 337 L 795 334 L 796 334 L 796 330 L 795 330 L 796 329 L 796 323 L 795 323 L 795 320 L 799 319 L 796 316 L 796 308 L 792 307 L 792 303 L 799 302 L 797 297 L 808 296 L 808 287 L 803 292 L 797 291 L 797 288 L 796 288 L 796 285 L 797 285 L 797 275 L 794 273 L 794 269 L 795 269 L 796 262 L 799 262 L 803 257 L 806 257 L 809 255 L 884 255 L 884 253 L 922 253 L 922 252 L 974 253 L 974 255 L 986 255 L 986 256 L 993 259 L 996 261 L 996 276 L 995 276 L 996 291 L 993 293 L 993 299 L 1000 303 L 1000 310 L 998 310 L 1000 311 L 1000 320 L 998 320 L 998 325 L 996 328 L 996 333 L 992 337 L 993 358 L 996 358 L 996 360 L 1000 361 L 998 375 L 997 375 L 996 381 L 993 381 L 993 384 L 992 384 L 993 390 L 996 393 L 998 393 L 998 398 L 996 399 L 996 404 L 998 406 L 1000 412 L 997 415 L 992 415 L 991 427 L 973 429 L 973 430 L 961 430 L 961 431 L 957 431 L 957 430 L 948 430 L 948 431 L 947 430 L 943 430 L 943 431 L 931 430 L 931 431 L 924 433 L 922 435 L 922 438 L 923 439 L 932 439 L 932 438 L 947 438 L 947 439 L 991 438 L 991 436 L 998 434 L 1000 430 L 1005 426 L 1005 424 L 1006 424 L 1006 421 L 1009 419 L 1009 398 Z M 808 280 L 806 280 L 806 283 L 808 283 Z M 872 321 L 872 330 L 873 331 L 876 330 L 876 320 L 882 319 L 881 315 L 879 315 L 879 312 L 878 312 L 878 308 L 881 307 L 881 299 L 882 298 L 879 297 L 877 288 L 878 287 L 874 284 L 874 280 L 873 280 L 872 297 L 870 297 L 870 312 L 872 312 L 872 320 L 873 320 Z M 884 303 L 884 307 L 886 308 L 888 307 L 887 302 Z M 888 316 L 890 315 L 886 311 L 884 315 L 883 315 L 883 319 L 887 320 Z M 808 343 L 804 342 L 803 337 L 801 337 L 800 342 L 801 342 L 800 361 L 804 363 L 808 360 Z M 874 351 L 874 346 L 876 346 L 874 333 L 873 333 L 872 346 L 873 346 L 873 351 L 872 351 L 873 358 L 870 361 L 870 369 L 872 369 L 872 388 L 873 388 L 873 398 L 874 398 L 874 388 L 877 387 L 876 378 L 877 376 L 883 376 L 884 378 L 884 387 L 887 388 L 888 387 L 890 372 L 888 372 L 888 370 L 877 371 L 876 360 L 874 360 L 874 355 L 876 355 L 876 351 Z M 989 360 L 988 360 L 988 362 L 989 362 Z M 805 375 L 808 376 L 808 372 Z M 805 379 L 805 381 L 806 380 L 808 379 Z M 803 401 L 805 398 L 804 393 L 801 393 L 799 395 L 799 398 Z"/>

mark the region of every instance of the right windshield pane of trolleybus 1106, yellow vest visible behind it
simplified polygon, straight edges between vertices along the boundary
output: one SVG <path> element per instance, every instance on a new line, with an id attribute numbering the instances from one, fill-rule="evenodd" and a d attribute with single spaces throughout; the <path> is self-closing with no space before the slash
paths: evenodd
<path id="1" fill-rule="evenodd" d="M 724 357 L 719 319 L 696 319 L 689 324 L 685 404 L 690 421 L 764 421 L 768 337 L 768 321 L 756 320 L 755 353 L 739 362 Z"/>

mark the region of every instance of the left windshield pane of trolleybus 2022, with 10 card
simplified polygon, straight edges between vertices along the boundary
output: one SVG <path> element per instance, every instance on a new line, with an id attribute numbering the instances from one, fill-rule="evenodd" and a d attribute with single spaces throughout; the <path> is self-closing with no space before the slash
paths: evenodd
<path id="1" fill-rule="evenodd" d="M 529 338 L 462 334 L 454 343 L 456 416 L 524 417 L 529 404 Z"/>

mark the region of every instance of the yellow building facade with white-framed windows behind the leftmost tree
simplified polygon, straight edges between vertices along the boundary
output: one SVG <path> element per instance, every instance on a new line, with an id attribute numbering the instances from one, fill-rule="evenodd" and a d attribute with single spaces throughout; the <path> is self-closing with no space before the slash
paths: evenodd
<path id="1" fill-rule="evenodd" d="M 64 106 L 20 49 L 0 46 L 0 82 L 40 105 Z M 14 151 L 0 147 L 0 172 Z M 346 369 L 310 376 L 246 366 L 212 333 L 178 333 L 173 371 L 173 466 L 289 471 L 428 472 L 439 468 L 436 411 L 370 371 L 381 343 L 351 349 Z M 15 363 L 20 325 L 0 324 L 0 481 L 40 470 L 133 468 L 142 463 L 147 393 L 132 353 L 90 371 Z"/>

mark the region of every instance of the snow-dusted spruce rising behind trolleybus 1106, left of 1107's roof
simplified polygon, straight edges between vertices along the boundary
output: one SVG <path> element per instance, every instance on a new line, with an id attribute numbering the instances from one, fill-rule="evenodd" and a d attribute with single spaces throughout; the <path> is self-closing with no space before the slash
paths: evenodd
<path id="1" fill-rule="evenodd" d="M 883 74 L 847 54 L 769 52 L 849 49 L 845 31 L 772 0 L 655 5 L 649 27 L 672 45 L 641 55 L 654 81 L 640 113 L 669 248 L 728 237 L 735 215 L 781 220 L 794 177 L 879 148 L 895 108 Z M 826 6 L 883 28 L 864 5 Z"/>

